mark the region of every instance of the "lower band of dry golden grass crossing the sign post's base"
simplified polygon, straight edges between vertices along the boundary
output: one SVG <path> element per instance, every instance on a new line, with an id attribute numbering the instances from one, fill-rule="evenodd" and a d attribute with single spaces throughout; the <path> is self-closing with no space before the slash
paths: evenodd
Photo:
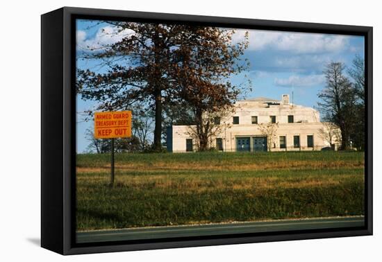
<path id="1" fill-rule="evenodd" d="M 136 190 L 145 190 L 149 186 L 152 189 L 176 190 L 182 192 L 204 192 L 212 190 L 247 190 L 247 189 L 302 189 L 313 187 L 325 187 L 339 185 L 343 180 L 361 179 L 363 180 L 363 172 L 353 172 L 340 175 L 324 176 L 318 174 L 311 176 L 307 171 L 306 176 L 296 175 L 291 176 L 256 176 L 256 172 L 251 175 L 238 177 L 215 175 L 211 176 L 206 173 L 199 175 L 179 174 L 176 175 L 129 175 L 126 171 L 119 171 L 116 175 L 116 182 L 119 186 L 128 187 Z M 110 171 L 108 171 L 110 172 Z M 87 181 L 94 183 L 107 183 L 108 172 L 88 173 L 90 175 L 78 176 L 78 182 Z M 174 172 L 174 171 L 173 171 Z"/>

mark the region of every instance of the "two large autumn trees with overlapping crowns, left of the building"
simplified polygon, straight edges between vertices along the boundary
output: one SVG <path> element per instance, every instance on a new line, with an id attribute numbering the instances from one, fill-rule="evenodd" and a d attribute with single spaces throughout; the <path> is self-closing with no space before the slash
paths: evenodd
<path id="1" fill-rule="evenodd" d="M 144 24 L 106 21 L 119 42 L 88 50 L 79 59 L 95 60 L 106 73 L 78 69 L 76 92 L 83 100 L 97 101 L 89 111 L 132 110 L 136 125 L 153 128 L 151 150 L 160 151 L 165 125 L 182 121 L 196 125 L 199 150 L 208 149 L 214 119 L 233 107 L 249 85 L 229 80 L 249 67 L 242 59 L 248 33 L 233 42 L 235 30 L 181 24 Z M 129 32 L 129 33 L 126 33 Z M 249 82 L 247 82 L 249 84 Z M 144 120 L 151 116 L 153 127 Z M 140 130 L 142 131 L 142 130 Z M 148 139 L 140 139 L 145 149 Z"/>

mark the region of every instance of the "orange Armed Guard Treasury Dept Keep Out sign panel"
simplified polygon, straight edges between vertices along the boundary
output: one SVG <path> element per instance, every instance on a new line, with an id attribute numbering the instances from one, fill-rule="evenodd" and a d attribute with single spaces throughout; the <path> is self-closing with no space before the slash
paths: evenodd
<path id="1" fill-rule="evenodd" d="M 96 139 L 131 137 L 131 111 L 95 113 L 94 137 Z"/>

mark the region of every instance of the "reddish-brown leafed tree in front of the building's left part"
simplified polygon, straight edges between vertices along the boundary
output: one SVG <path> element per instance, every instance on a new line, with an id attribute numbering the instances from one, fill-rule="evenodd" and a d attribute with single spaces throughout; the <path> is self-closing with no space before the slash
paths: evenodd
<path id="1" fill-rule="evenodd" d="M 172 78 L 176 80 L 176 98 L 184 101 L 194 127 L 189 134 L 200 151 L 208 150 L 212 137 L 222 128 L 222 119 L 233 110 L 233 103 L 244 87 L 231 84 L 231 76 L 249 67 L 239 62 L 248 46 L 248 34 L 233 44 L 234 30 L 193 26 L 181 35 L 181 46 L 174 50 Z"/>

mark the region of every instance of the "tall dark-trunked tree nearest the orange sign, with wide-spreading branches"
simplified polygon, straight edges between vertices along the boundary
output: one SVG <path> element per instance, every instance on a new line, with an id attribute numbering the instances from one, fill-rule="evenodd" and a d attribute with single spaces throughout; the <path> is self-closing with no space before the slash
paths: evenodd
<path id="1" fill-rule="evenodd" d="M 155 112 L 153 146 L 161 148 L 163 101 L 171 85 L 168 76 L 169 53 L 179 44 L 181 25 L 108 21 L 116 33 L 128 32 L 122 40 L 88 53 L 85 59 L 98 59 L 106 73 L 77 71 L 77 92 L 83 99 L 101 102 L 97 110 L 125 110 L 135 102 L 149 103 Z"/>

